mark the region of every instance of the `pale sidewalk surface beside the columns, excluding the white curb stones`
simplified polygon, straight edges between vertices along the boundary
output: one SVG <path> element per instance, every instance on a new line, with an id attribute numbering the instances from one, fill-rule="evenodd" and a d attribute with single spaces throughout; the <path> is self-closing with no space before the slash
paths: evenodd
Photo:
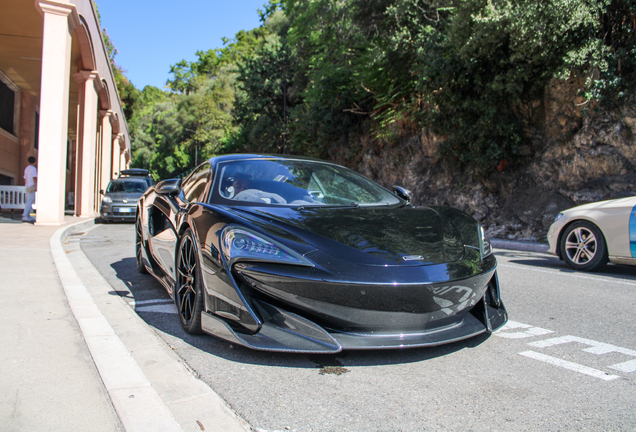
<path id="1" fill-rule="evenodd" d="M 58 229 L 0 224 L 0 424 L 7 432 L 123 431 L 53 262 Z"/>

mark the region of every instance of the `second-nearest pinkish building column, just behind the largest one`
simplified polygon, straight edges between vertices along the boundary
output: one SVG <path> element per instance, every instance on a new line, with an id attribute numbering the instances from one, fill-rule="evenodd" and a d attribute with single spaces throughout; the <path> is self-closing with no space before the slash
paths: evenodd
<path id="1" fill-rule="evenodd" d="M 78 158 L 75 214 L 95 216 L 95 153 L 97 151 L 97 85 L 96 71 L 80 71 L 73 75 L 80 84 L 77 113 Z"/>

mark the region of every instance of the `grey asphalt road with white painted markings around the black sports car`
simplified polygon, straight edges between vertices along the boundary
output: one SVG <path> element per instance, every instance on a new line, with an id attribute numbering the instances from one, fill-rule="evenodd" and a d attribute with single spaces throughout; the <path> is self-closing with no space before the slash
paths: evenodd
<path id="1" fill-rule="evenodd" d="M 97 225 L 81 246 L 256 431 L 636 429 L 636 268 L 577 273 L 496 250 L 506 329 L 435 348 L 294 355 L 186 334 L 162 286 L 137 273 L 133 225 Z"/>

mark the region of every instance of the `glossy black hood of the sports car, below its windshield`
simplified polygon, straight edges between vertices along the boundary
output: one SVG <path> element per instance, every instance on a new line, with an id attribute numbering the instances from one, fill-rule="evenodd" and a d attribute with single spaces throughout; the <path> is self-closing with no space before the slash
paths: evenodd
<path id="1" fill-rule="evenodd" d="M 459 232 L 428 207 L 234 207 L 263 229 L 269 224 L 333 257 L 367 265 L 430 265 L 459 261 Z M 266 224 L 258 221 L 267 221 Z M 258 220 L 258 221 L 257 221 Z M 276 230 L 274 235 L 280 236 Z"/>

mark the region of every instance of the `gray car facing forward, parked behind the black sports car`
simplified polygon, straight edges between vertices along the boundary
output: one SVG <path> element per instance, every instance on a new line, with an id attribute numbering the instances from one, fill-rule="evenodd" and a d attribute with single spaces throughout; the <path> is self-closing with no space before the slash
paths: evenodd
<path id="1" fill-rule="evenodd" d="M 148 187 L 142 178 L 118 178 L 111 180 L 102 191 L 102 205 L 99 214 L 104 222 L 134 222 L 137 216 L 137 201 Z"/>

